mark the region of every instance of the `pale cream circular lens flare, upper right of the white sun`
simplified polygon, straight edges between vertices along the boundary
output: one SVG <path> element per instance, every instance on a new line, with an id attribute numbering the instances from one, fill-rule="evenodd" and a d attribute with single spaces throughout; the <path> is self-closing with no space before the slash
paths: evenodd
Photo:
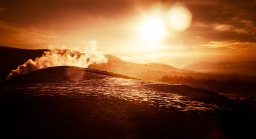
<path id="1" fill-rule="evenodd" d="M 192 14 L 183 6 L 175 5 L 167 13 L 167 26 L 172 31 L 185 31 L 191 24 Z"/>

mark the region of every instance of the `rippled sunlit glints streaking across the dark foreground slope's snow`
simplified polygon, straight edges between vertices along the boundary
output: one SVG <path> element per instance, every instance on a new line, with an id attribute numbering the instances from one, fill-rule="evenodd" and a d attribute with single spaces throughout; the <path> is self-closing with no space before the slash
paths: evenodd
<path id="1" fill-rule="evenodd" d="M 215 104 L 204 103 L 188 96 L 183 96 L 179 85 L 170 83 L 140 81 L 122 78 L 103 78 L 80 81 L 62 81 L 53 83 L 35 83 L 26 86 L 13 87 L 13 90 L 24 90 L 35 96 L 74 96 L 132 101 L 133 103 L 147 102 L 149 105 L 163 108 L 175 108 L 178 111 L 212 111 L 219 108 Z M 176 89 L 176 90 L 175 90 Z"/>

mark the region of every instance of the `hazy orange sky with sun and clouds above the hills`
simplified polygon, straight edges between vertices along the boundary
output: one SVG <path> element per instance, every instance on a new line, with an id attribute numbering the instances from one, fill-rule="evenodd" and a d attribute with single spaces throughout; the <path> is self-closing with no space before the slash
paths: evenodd
<path id="1" fill-rule="evenodd" d="M 256 60 L 255 13 L 255 0 L 1 0 L 0 45 L 84 47 L 95 40 L 123 60 L 175 67 Z"/>

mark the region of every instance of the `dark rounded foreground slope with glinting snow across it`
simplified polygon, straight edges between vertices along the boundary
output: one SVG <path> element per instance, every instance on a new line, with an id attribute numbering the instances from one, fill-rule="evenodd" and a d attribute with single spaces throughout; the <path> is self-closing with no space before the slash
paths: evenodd
<path id="1" fill-rule="evenodd" d="M 50 67 L 0 84 L 9 138 L 251 138 L 255 111 L 184 85 Z"/>

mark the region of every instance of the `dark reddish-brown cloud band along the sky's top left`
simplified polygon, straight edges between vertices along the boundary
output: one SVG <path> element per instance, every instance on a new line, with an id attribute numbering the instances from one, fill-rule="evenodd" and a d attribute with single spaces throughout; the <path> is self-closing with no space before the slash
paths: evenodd
<path id="1" fill-rule="evenodd" d="M 120 16 L 132 9 L 135 1 L 84 1 L 84 0 L 63 0 L 53 1 L 4 1 L 3 6 L 12 8 L 6 14 L 0 15 L 0 19 L 12 22 L 13 24 L 27 25 L 30 23 L 42 24 L 55 21 L 68 21 L 67 18 L 81 18 L 87 16 Z M 33 11 L 33 12 L 31 12 Z"/>

